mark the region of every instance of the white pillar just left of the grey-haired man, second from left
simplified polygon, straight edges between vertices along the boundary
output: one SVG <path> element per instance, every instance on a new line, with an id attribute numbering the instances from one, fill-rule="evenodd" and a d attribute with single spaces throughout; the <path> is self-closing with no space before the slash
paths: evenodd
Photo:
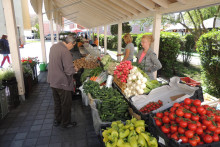
<path id="1" fill-rule="evenodd" d="M 39 29 L 40 29 L 40 41 L 41 41 L 41 50 L 42 50 L 42 60 L 43 62 L 47 63 L 47 56 L 46 56 L 46 47 L 45 47 L 45 40 L 44 40 L 44 24 L 43 24 L 43 14 L 42 14 L 42 0 L 37 0 L 38 4 L 38 22 L 39 22 Z"/>

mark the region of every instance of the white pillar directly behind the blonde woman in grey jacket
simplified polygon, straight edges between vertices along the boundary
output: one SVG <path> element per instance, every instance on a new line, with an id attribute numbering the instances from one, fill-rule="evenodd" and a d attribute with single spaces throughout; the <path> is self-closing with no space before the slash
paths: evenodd
<path id="1" fill-rule="evenodd" d="M 152 43 L 151 47 L 153 48 L 154 52 L 159 56 L 159 45 L 160 45 L 160 27 L 161 27 L 161 14 L 154 14 L 154 23 L 153 23 L 153 38 L 154 42 Z M 154 73 L 154 77 L 157 77 L 157 72 Z"/>

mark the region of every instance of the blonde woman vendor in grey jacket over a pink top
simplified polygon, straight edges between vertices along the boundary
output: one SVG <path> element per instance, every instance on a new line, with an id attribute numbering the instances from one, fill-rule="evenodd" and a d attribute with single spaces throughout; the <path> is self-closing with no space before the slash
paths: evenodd
<path id="1" fill-rule="evenodd" d="M 153 42 L 152 35 L 144 35 L 141 38 L 141 45 L 143 50 L 140 50 L 137 54 L 137 63 L 141 64 L 144 68 L 144 71 L 154 80 L 153 73 L 162 68 L 160 61 L 157 58 L 157 55 L 150 48 L 151 42 Z"/>

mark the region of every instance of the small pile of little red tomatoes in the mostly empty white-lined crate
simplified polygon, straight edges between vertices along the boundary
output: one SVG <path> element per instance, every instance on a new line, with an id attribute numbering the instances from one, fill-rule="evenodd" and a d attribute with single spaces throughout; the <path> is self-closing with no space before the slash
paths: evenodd
<path id="1" fill-rule="evenodd" d="M 163 106 L 163 102 L 161 100 L 158 100 L 158 102 L 149 102 L 146 106 L 140 109 L 140 112 L 149 113 L 153 110 L 157 110 L 161 106 Z"/>

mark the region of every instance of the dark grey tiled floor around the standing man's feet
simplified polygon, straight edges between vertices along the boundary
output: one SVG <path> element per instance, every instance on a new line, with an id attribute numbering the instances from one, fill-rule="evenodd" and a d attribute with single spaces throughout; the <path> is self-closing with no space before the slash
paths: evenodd
<path id="1" fill-rule="evenodd" d="M 53 126 L 53 97 L 41 73 L 28 99 L 0 122 L 0 147 L 99 147 L 89 107 L 73 100 L 72 120 L 78 126 L 64 129 Z"/>

